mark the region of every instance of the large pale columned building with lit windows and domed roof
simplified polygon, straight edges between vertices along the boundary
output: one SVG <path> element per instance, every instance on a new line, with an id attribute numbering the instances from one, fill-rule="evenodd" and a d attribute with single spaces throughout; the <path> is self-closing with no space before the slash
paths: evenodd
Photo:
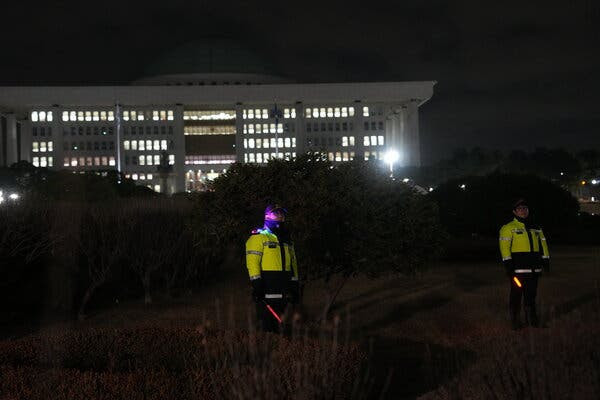
<path id="1" fill-rule="evenodd" d="M 236 161 L 305 152 L 339 163 L 394 149 L 395 165 L 418 166 L 418 108 L 435 84 L 293 83 L 227 43 L 186 45 L 147 75 L 127 86 L 0 87 L 0 165 L 118 169 L 167 193 L 202 189 Z"/>

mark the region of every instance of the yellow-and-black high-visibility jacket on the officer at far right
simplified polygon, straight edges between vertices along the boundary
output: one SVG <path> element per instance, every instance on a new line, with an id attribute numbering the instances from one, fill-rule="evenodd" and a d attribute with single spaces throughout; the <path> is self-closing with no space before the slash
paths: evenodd
<path id="1" fill-rule="evenodd" d="M 512 260 L 515 273 L 542 272 L 544 259 L 550 258 L 542 229 L 527 228 L 516 218 L 500 228 L 502 261 Z"/>

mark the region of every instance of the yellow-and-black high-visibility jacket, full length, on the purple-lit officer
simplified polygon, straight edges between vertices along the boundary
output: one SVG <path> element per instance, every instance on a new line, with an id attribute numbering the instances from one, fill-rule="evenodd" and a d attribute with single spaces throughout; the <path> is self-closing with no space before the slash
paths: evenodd
<path id="1" fill-rule="evenodd" d="M 264 282 L 266 298 L 285 293 L 298 281 L 298 264 L 293 243 L 281 243 L 269 229 L 256 229 L 246 241 L 246 267 L 250 280 Z"/>

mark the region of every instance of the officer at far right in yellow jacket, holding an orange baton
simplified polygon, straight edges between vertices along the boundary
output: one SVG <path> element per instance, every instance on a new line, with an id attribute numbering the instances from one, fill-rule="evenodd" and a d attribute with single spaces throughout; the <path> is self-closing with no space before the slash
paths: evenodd
<path id="1" fill-rule="evenodd" d="M 527 225 L 529 207 L 524 199 L 513 206 L 515 218 L 500 229 L 500 254 L 506 275 L 510 279 L 509 309 L 513 329 L 521 327 L 521 298 L 525 308 L 525 320 L 530 326 L 538 326 L 535 308 L 538 277 L 542 267 L 550 269 L 550 253 L 541 228 Z"/>

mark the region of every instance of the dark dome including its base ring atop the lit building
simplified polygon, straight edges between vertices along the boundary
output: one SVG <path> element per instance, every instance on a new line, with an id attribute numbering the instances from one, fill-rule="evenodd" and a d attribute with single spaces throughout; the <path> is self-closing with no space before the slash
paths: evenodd
<path id="1" fill-rule="evenodd" d="M 202 40 L 166 52 L 133 84 L 234 85 L 286 81 L 273 64 L 236 42 Z"/>

